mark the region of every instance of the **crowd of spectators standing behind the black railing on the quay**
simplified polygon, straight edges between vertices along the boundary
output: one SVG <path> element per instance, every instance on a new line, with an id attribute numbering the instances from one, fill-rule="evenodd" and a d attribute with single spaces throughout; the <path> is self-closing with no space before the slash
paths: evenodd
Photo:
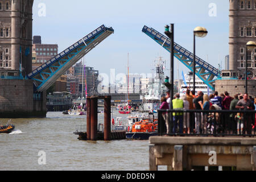
<path id="1" fill-rule="evenodd" d="M 170 92 L 162 97 L 160 109 L 169 109 Z M 229 96 L 228 92 L 220 94 L 204 94 L 201 91 L 195 93 L 187 89 L 180 97 L 176 93 L 172 100 L 172 109 L 183 112 L 162 113 L 166 121 L 167 133 L 183 134 L 212 134 L 214 131 L 232 134 L 251 134 L 256 126 L 256 115 L 246 114 L 245 110 L 256 110 L 256 97 L 248 94 L 235 94 Z M 195 111 L 191 111 L 195 110 Z M 203 110 L 203 111 L 202 111 Z M 211 110 L 227 110 L 225 112 Z M 170 118 L 172 117 L 172 122 Z M 170 130 L 171 129 L 171 130 Z M 170 130 L 170 131 L 169 131 Z"/>

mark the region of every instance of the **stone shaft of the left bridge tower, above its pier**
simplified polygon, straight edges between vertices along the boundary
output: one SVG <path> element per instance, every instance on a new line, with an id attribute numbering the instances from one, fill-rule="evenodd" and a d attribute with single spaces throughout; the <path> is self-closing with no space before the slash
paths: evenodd
<path id="1" fill-rule="evenodd" d="M 0 1 L 0 70 L 32 71 L 32 6 L 34 0 Z M 20 66 L 21 63 L 21 66 Z"/>

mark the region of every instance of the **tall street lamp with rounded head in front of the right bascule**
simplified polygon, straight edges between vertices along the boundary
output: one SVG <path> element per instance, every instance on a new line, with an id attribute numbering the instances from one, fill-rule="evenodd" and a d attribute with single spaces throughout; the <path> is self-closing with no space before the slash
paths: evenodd
<path id="1" fill-rule="evenodd" d="M 193 90 L 196 92 L 196 36 L 204 38 L 207 36 L 208 31 L 204 27 L 196 27 L 193 31 L 194 37 L 194 56 L 193 56 Z"/>

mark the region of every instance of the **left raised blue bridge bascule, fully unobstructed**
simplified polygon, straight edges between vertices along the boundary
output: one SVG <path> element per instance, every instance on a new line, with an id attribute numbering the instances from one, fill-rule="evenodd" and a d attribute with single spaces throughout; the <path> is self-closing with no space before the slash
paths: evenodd
<path id="1" fill-rule="evenodd" d="M 61 75 L 63 75 L 72 65 L 85 56 L 89 51 L 113 34 L 112 27 L 107 28 L 104 25 L 90 32 L 84 38 L 68 47 L 51 60 L 28 74 L 27 78 L 34 80 L 36 92 L 47 90 Z"/>

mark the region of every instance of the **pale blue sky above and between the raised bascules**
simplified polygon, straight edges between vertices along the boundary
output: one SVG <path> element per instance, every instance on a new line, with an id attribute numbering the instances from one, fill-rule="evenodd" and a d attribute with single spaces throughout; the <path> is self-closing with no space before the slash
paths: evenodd
<path id="1" fill-rule="evenodd" d="M 33 7 L 33 35 L 42 36 L 44 44 L 58 44 L 59 52 L 104 24 L 112 27 L 110 35 L 85 55 L 86 66 L 110 76 L 127 73 L 129 52 L 130 73 L 151 73 L 158 56 L 167 61 L 170 53 L 142 32 L 144 25 L 164 34 L 164 26 L 174 23 L 174 41 L 193 52 L 193 29 L 207 28 L 205 38 L 196 38 L 196 55 L 218 68 L 224 69 L 229 54 L 229 1 L 223 0 L 35 0 Z M 208 60 L 207 60 L 208 58 Z M 174 70 L 177 78 L 177 60 Z M 189 71 L 178 63 L 181 71 Z M 170 75 L 170 70 L 164 71 Z"/>

